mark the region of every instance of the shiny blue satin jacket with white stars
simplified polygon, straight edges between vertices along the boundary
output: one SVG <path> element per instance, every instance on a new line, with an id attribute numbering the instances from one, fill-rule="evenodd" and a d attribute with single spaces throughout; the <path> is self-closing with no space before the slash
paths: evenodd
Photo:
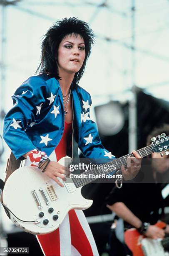
<path id="1" fill-rule="evenodd" d="M 90 119 L 91 97 L 82 87 L 72 89 L 73 127 L 78 147 L 90 159 L 111 161 L 96 124 Z M 28 78 L 12 96 L 13 108 L 5 116 L 3 138 L 16 159 L 37 148 L 48 156 L 60 142 L 65 115 L 59 81 L 50 75 Z"/>

